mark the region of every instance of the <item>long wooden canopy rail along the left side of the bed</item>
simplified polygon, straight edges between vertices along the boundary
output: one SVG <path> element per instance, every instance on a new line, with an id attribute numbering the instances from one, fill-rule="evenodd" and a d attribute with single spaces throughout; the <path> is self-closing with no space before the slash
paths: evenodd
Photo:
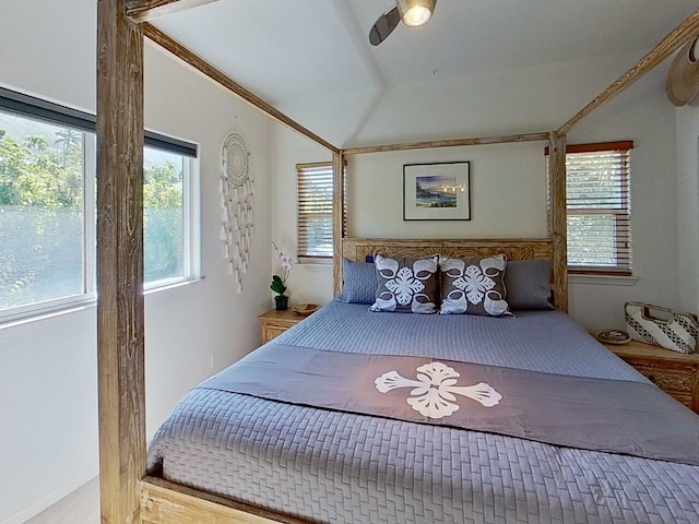
<path id="1" fill-rule="evenodd" d="M 143 27 L 143 34 L 146 37 L 149 37 L 151 40 L 153 40 L 155 44 L 157 44 L 162 48 L 168 50 L 169 52 L 178 57 L 180 60 L 182 60 L 187 64 L 198 70 L 200 73 L 203 73 L 205 76 L 221 84 L 222 86 L 230 91 L 234 95 L 236 95 L 238 98 L 242 99 L 244 102 L 247 102 L 253 107 L 257 107 L 259 110 L 264 112 L 268 117 L 272 118 L 273 120 L 276 120 L 280 123 L 283 123 L 284 126 L 292 128 L 293 130 L 299 132 L 306 138 L 312 140 L 313 142 L 330 150 L 331 152 L 335 154 L 340 153 L 339 147 L 334 146 L 327 140 L 321 139 L 316 133 L 306 129 L 295 120 L 292 120 L 282 111 L 274 108 L 271 104 L 268 104 L 262 98 L 257 96 L 254 93 L 245 88 L 242 85 L 240 85 L 236 81 L 232 80 L 225 73 L 217 70 L 216 68 L 211 66 L 209 62 L 201 59 L 199 56 L 194 55 L 188 48 L 182 46 L 180 43 L 178 43 L 170 36 L 163 33 L 161 29 L 158 29 L 154 25 L 149 24 L 147 22 L 141 25 Z"/>

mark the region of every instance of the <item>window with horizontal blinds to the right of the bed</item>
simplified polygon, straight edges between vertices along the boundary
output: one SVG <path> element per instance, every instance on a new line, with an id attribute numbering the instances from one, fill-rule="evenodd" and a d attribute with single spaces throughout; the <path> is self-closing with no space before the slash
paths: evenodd
<path id="1" fill-rule="evenodd" d="M 566 147 L 568 270 L 631 274 L 629 152 L 633 142 Z"/>

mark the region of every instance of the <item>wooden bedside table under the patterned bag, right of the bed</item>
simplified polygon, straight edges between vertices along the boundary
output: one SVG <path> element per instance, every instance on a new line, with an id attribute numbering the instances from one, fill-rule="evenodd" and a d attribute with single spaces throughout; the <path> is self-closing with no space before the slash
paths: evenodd
<path id="1" fill-rule="evenodd" d="M 699 353 L 685 355 L 637 341 L 604 346 L 633 366 L 661 390 L 699 413 Z"/>

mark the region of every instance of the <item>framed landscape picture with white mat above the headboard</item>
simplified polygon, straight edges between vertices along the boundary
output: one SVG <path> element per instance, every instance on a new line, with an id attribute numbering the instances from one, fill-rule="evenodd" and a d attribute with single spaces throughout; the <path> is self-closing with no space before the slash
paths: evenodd
<path id="1" fill-rule="evenodd" d="M 471 163 L 403 166 L 404 221 L 470 221 Z"/>

